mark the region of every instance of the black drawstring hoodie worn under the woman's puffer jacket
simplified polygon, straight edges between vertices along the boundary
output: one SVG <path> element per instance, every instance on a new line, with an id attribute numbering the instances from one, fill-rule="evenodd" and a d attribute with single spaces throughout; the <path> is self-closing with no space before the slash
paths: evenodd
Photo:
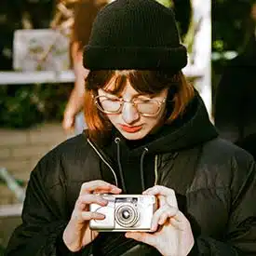
<path id="1" fill-rule="evenodd" d="M 160 177 L 155 177 L 155 155 L 171 153 L 177 157 L 181 151 L 191 149 L 216 136 L 217 132 L 209 121 L 205 105 L 196 94 L 180 118 L 141 140 L 128 141 L 114 129 L 111 143 L 103 149 L 104 153 L 101 153 L 115 170 L 118 170 L 115 173 L 123 193 L 141 195 L 142 191 L 161 180 Z M 102 163 L 103 180 L 112 182 L 109 174 L 108 167 Z M 181 173 L 177 175 L 182 176 Z M 121 255 L 128 248 L 139 244 L 127 239 L 122 233 L 101 233 L 97 243 L 97 248 L 101 248 L 101 252 L 97 253 L 104 256 Z M 158 255 L 155 253 L 156 250 L 147 255 Z"/>

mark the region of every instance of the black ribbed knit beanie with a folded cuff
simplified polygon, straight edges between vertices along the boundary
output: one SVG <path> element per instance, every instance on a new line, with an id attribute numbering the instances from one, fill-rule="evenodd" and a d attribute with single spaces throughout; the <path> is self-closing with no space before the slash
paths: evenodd
<path id="1" fill-rule="evenodd" d="M 170 8 L 155 0 L 115 0 L 94 20 L 84 66 L 90 70 L 181 70 L 187 51 Z"/>

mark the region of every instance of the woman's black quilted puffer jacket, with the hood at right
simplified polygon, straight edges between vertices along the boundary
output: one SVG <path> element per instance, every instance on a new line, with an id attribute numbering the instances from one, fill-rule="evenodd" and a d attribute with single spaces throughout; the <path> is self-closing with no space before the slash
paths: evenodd
<path id="1" fill-rule="evenodd" d="M 165 126 L 154 140 L 127 149 L 121 140 L 119 146 L 128 150 L 131 157 L 143 155 L 141 166 L 155 161 L 155 169 L 144 168 L 141 173 L 152 169 L 156 183 L 176 191 L 180 209 L 190 220 L 195 236 L 191 254 L 256 255 L 254 161 L 247 152 L 217 137 L 199 97 L 181 120 Z M 63 249 L 61 235 L 81 184 L 98 179 L 115 183 L 122 174 L 106 153 L 83 134 L 61 143 L 43 157 L 31 174 L 23 223 L 11 237 L 7 255 L 74 254 Z M 122 165 L 120 155 L 119 161 Z M 123 174 L 128 177 L 125 169 Z M 146 183 L 149 185 L 150 181 Z M 159 255 L 155 249 L 137 242 L 127 241 L 125 245 L 122 249 L 127 252 L 116 247 L 107 255 Z M 96 250 L 99 248 L 101 238 L 74 255 L 100 255 L 102 252 Z"/>

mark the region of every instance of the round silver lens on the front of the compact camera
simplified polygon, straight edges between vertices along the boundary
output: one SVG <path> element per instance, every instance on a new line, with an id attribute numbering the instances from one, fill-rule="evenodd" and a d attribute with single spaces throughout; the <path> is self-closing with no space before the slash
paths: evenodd
<path id="1" fill-rule="evenodd" d="M 130 204 L 122 204 L 115 209 L 115 221 L 123 227 L 132 227 L 138 222 L 139 213 Z"/>

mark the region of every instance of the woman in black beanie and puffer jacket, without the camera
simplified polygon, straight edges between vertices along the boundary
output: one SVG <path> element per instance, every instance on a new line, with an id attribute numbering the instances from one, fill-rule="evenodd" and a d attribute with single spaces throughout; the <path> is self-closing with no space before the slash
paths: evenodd
<path id="1" fill-rule="evenodd" d="M 254 161 L 218 138 L 186 62 L 168 8 L 101 9 L 84 52 L 88 129 L 32 172 L 7 255 L 256 253 Z M 89 210 L 107 205 L 101 194 L 155 195 L 151 232 L 90 230 L 105 218 Z"/>

